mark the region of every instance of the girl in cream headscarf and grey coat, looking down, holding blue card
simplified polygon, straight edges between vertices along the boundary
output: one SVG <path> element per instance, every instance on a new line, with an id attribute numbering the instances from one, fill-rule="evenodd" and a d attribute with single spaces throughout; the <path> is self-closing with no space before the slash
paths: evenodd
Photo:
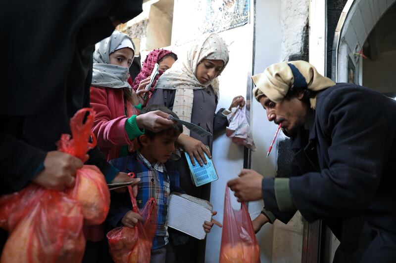
<path id="1" fill-rule="evenodd" d="M 178 59 L 173 66 L 158 79 L 148 104 L 165 105 L 180 119 L 199 125 L 210 133 L 227 126 L 224 109 L 215 113 L 219 99 L 217 76 L 226 67 L 229 60 L 225 41 L 216 34 L 210 34 L 193 44 L 184 58 Z M 234 98 L 230 107 L 244 105 L 242 96 Z M 200 137 L 183 127 L 178 143 L 190 156 L 199 162 L 203 151 L 210 157 L 213 136 Z M 209 146 L 209 150 L 206 149 Z M 203 157 L 204 158 L 204 157 Z M 202 159 L 203 159 L 202 158 Z M 192 160 L 194 162 L 194 160 Z M 185 158 L 178 160 L 181 174 L 181 186 L 193 196 L 209 200 L 210 186 L 194 187 Z M 184 178 L 185 176 L 185 178 Z"/>

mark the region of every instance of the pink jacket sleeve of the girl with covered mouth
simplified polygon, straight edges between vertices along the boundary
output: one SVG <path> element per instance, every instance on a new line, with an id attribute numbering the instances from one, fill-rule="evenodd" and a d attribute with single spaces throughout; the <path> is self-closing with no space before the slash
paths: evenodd
<path id="1" fill-rule="evenodd" d="M 92 130 L 97 136 L 99 148 L 133 145 L 125 131 L 127 116 L 123 115 L 111 119 L 111 112 L 107 105 L 106 89 L 91 87 L 90 95 L 91 107 L 96 112 Z"/>

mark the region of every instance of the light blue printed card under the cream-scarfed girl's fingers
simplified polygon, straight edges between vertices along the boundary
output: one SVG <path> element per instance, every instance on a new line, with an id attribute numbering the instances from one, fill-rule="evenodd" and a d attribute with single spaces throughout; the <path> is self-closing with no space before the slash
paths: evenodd
<path id="1" fill-rule="evenodd" d="M 207 164 L 204 164 L 203 166 L 200 166 L 197 159 L 194 157 L 195 161 L 195 166 L 191 163 L 190 156 L 187 152 L 185 152 L 187 162 L 190 167 L 190 172 L 191 172 L 191 177 L 194 181 L 194 184 L 199 187 L 205 184 L 208 184 L 210 182 L 216 181 L 219 179 L 217 176 L 216 169 L 214 168 L 212 159 L 209 159 L 205 154 L 205 158 L 207 161 Z"/>

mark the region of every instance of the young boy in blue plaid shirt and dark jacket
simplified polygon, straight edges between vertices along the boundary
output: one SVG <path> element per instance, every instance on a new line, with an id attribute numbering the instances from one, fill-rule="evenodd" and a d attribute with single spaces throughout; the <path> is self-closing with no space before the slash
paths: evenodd
<path id="1" fill-rule="evenodd" d="M 150 105 L 141 112 L 161 111 L 178 116 L 168 108 L 160 105 Z M 127 157 L 116 158 L 110 163 L 121 172 L 134 172 L 136 178 L 141 181 L 138 184 L 138 194 L 136 201 L 139 209 L 142 209 L 150 197 L 154 197 L 158 209 L 157 229 L 151 248 L 151 263 L 173 262 L 171 247 L 168 244 L 168 229 L 166 226 L 167 201 L 172 191 L 184 192 L 180 188 L 179 172 L 176 164 L 168 159 L 175 150 L 175 142 L 183 132 L 180 123 L 154 133 L 145 131 L 139 137 L 141 148 Z M 128 193 L 111 193 L 110 211 L 107 217 L 108 223 L 113 226 L 125 225 L 134 227 L 142 217 L 134 213 Z M 213 215 L 216 213 L 213 212 Z M 206 232 L 210 232 L 213 224 L 219 225 L 215 220 L 205 221 L 203 227 Z"/>

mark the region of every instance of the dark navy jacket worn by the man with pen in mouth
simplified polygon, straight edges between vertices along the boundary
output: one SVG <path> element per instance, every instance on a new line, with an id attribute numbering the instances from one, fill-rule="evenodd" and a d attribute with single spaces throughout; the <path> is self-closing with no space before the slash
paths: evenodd
<path id="1" fill-rule="evenodd" d="M 284 223 L 296 208 L 308 222 L 324 220 L 348 253 L 364 253 L 382 234 L 396 250 L 395 100 L 347 83 L 321 91 L 305 127 L 292 138 L 292 150 L 295 209 L 281 211 L 274 179 L 266 178 L 266 210 Z M 368 243 L 362 241 L 366 225 L 374 229 Z M 362 243 L 367 243 L 363 249 Z"/>

